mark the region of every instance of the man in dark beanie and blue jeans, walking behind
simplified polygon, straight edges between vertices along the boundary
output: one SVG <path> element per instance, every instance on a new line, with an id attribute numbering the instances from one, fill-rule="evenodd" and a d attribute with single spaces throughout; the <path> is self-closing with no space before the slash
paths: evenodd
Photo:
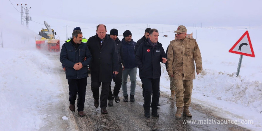
<path id="1" fill-rule="evenodd" d="M 130 102 L 135 102 L 135 87 L 136 87 L 136 74 L 137 67 L 135 64 L 135 44 L 132 39 L 132 33 L 126 30 L 123 33 L 124 38 L 121 40 L 123 49 L 123 61 L 125 63 L 122 74 L 122 91 L 124 95 L 124 102 L 128 102 L 127 93 L 127 77 L 130 76 Z"/>

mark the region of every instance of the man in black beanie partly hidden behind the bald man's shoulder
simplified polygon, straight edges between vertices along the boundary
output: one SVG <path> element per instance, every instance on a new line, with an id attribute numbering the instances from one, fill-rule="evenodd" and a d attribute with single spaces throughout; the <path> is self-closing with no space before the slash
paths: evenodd
<path id="1" fill-rule="evenodd" d="M 119 64 L 119 71 L 118 71 L 118 74 L 116 76 L 113 76 L 113 80 L 115 82 L 115 86 L 114 86 L 114 92 L 112 93 L 111 91 L 111 86 L 109 88 L 109 95 L 108 95 L 108 106 L 113 106 L 113 99 L 115 98 L 115 102 L 116 103 L 119 103 L 120 102 L 120 99 L 118 97 L 118 93 L 119 93 L 119 90 L 121 88 L 121 83 L 122 83 L 122 64 L 124 66 L 124 63 L 122 62 L 122 56 L 123 56 L 123 50 L 122 50 L 122 43 L 121 43 L 121 40 L 119 40 L 117 38 L 118 36 L 118 30 L 117 29 L 111 29 L 110 30 L 110 38 L 112 38 L 113 40 L 115 40 L 115 43 L 116 43 L 116 48 L 117 48 L 117 51 L 118 51 L 118 64 Z"/>

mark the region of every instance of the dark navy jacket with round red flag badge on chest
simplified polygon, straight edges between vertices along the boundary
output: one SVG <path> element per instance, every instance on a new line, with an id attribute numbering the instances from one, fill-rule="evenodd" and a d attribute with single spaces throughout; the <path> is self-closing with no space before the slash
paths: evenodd
<path id="1" fill-rule="evenodd" d="M 165 57 L 165 51 L 162 44 L 157 42 L 153 48 L 148 43 L 148 39 L 140 44 L 135 54 L 135 62 L 139 68 L 139 77 L 157 79 L 161 76 L 162 57 Z M 163 63 L 163 62 L 162 62 Z"/>

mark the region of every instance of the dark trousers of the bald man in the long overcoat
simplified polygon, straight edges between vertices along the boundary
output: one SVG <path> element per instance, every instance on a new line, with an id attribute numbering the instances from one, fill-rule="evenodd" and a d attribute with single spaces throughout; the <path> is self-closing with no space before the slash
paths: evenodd
<path id="1" fill-rule="evenodd" d="M 99 87 L 102 83 L 101 96 L 100 96 L 100 108 L 107 107 L 107 98 L 109 92 L 110 82 L 91 82 L 91 90 L 93 92 L 94 99 L 99 99 Z"/>

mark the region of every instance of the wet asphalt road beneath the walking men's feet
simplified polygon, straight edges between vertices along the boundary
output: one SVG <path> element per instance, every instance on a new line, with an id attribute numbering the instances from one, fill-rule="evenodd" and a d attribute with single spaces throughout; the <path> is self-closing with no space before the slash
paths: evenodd
<path id="1" fill-rule="evenodd" d="M 189 110 L 193 117 L 188 118 L 183 116 L 182 119 L 176 119 L 176 106 L 174 100 L 169 100 L 169 95 L 160 93 L 160 107 L 158 107 L 159 118 L 151 116 L 144 117 L 143 97 L 141 82 L 137 82 L 135 91 L 135 102 L 123 102 L 122 89 L 120 89 L 120 103 L 114 101 L 113 107 L 107 106 L 108 114 L 100 113 L 100 106 L 95 108 L 93 105 L 93 94 L 91 91 L 91 80 L 88 78 L 85 99 L 85 117 L 79 117 L 77 112 L 73 113 L 79 130 L 93 131 L 246 131 L 247 129 L 234 124 L 200 124 L 198 120 L 210 122 L 210 120 L 224 120 L 223 118 L 208 115 L 211 111 L 200 107 L 199 105 L 191 104 Z M 111 82 L 113 91 L 114 83 Z M 130 82 L 128 83 L 128 93 L 130 91 Z M 100 89 L 101 92 L 101 89 Z M 100 102 L 100 99 L 99 99 Z M 151 111 L 150 111 L 151 113 Z M 184 124 L 183 120 L 197 120 L 195 124 Z"/>

